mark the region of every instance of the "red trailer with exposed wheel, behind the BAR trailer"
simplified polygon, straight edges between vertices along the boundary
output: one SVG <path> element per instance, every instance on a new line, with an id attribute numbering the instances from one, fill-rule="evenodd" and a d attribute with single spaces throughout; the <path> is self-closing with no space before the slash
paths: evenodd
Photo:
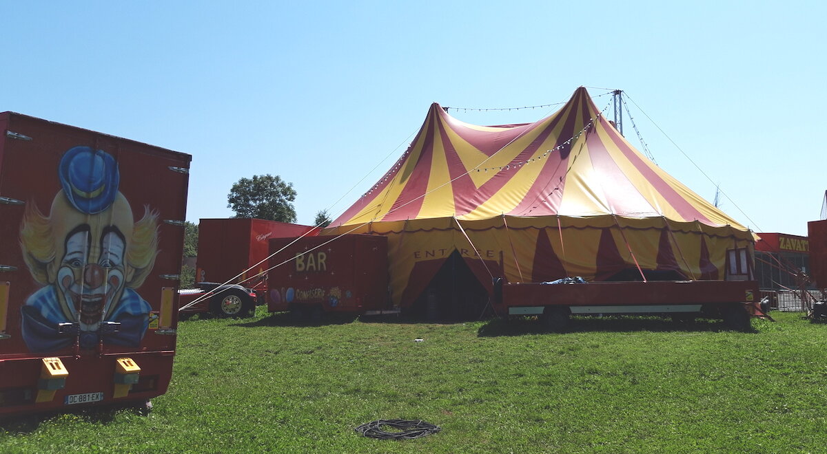
<path id="1" fill-rule="evenodd" d="M 265 302 L 270 239 L 302 235 L 318 235 L 318 229 L 263 219 L 200 220 L 196 288 L 179 291 L 180 312 L 211 312 L 219 317 L 253 314 L 256 304 Z"/>

